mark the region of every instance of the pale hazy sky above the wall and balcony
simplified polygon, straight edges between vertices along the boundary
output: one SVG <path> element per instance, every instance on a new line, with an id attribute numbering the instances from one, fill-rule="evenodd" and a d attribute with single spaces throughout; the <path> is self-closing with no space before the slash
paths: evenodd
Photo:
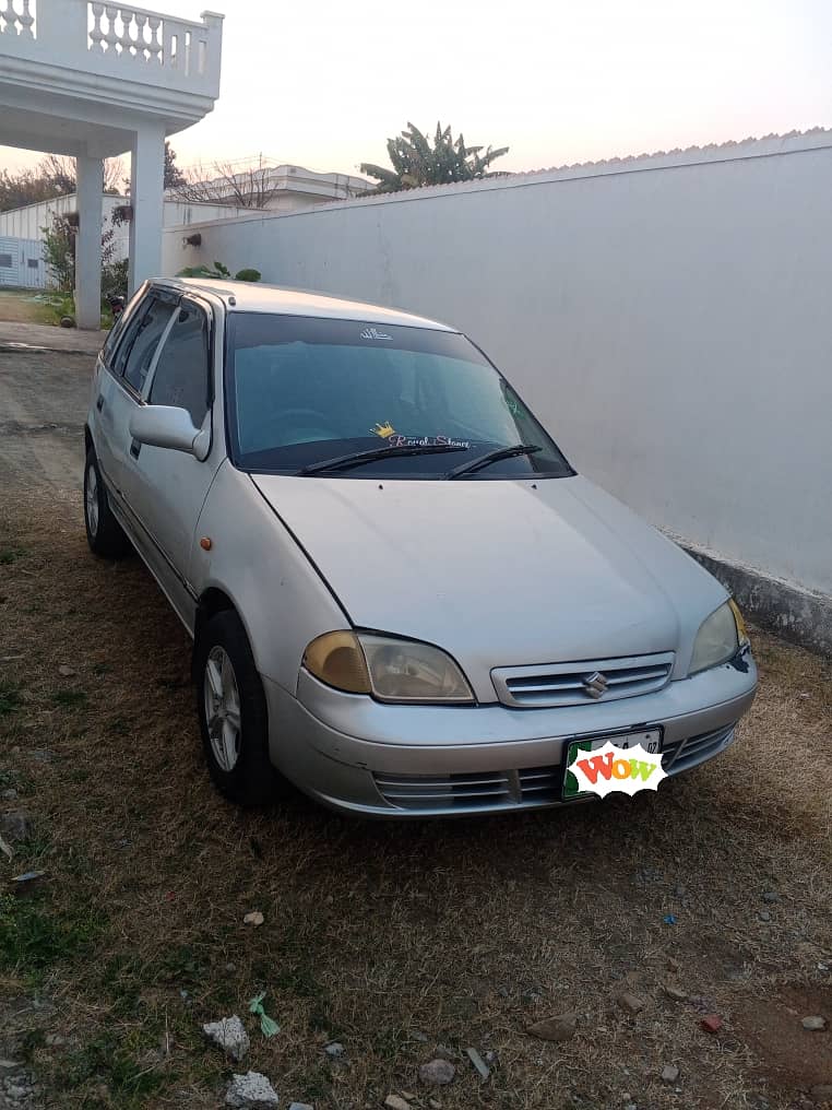
<path id="1" fill-rule="evenodd" d="M 832 125 L 829 0 L 211 2 L 222 89 L 171 137 L 181 167 L 357 173 L 408 120 L 508 145 L 509 171 Z M 0 169 L 33 160 L 0 148 Z"/>

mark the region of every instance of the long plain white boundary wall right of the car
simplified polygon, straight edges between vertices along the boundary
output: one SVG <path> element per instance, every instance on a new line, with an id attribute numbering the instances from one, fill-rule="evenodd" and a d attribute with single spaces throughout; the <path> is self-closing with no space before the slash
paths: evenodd
<path id="1" fill-rule="evenodd" d="M 832 132 L 199 230 L 165 233 L 165 273 L 219 259 L 451 322 L 578 470 L 832 595 Z"/>

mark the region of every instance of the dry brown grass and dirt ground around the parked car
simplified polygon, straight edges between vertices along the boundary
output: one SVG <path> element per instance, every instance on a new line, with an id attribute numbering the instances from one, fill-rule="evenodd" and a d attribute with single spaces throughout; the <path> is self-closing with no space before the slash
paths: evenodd
<path id="1" fill-rule="evenodd" d="M 753 633 L 738 743 L 657 795 L 400 825 L 300 796 L 237 811 L 204 768 L 184 632 L 138 558 L 88 552 L 90 372 L 0 352 L 0 807 L 30 820 L 0 856 L 0 1081 L 8 1061 L 29 1087 L 0 1107 L 217 1108 L 248 1068 L 316 1110 L 820 1104 L 832 1031 L 801 1019 L 832 1023 L 830 660 Z M 570 1040 L 528 1033 L 565 1012 Z M 236 1068 L 201 1033 L 231 1013 Z M 437 1052 L 456 1076 L 429 1089 Z"/>

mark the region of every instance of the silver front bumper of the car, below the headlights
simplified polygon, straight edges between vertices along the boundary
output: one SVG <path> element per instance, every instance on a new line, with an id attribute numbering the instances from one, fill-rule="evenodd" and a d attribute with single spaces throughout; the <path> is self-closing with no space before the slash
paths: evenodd
<path id="1" fill-rule="evenodd" d="M 263 686 L 272 760 L 302 790 L 345 813 L 436 817 L 562 804 L 576 737 L 661 726 L 668 774 L 704 763 L 733 741 L 757 667 L 747 652 L 655 694 L 555 709 L 382 705 L 305 672 L 296 697 Z"/>

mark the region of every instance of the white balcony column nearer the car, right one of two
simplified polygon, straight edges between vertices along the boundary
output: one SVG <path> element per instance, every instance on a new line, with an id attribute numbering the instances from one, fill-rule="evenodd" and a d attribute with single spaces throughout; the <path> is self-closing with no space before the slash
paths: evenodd
<path id="1" fill-rule="evenodd" d="M 133 139 L 130 167 L 130 293 L 162 265 L 164 129 L 144 124 Z"/>

